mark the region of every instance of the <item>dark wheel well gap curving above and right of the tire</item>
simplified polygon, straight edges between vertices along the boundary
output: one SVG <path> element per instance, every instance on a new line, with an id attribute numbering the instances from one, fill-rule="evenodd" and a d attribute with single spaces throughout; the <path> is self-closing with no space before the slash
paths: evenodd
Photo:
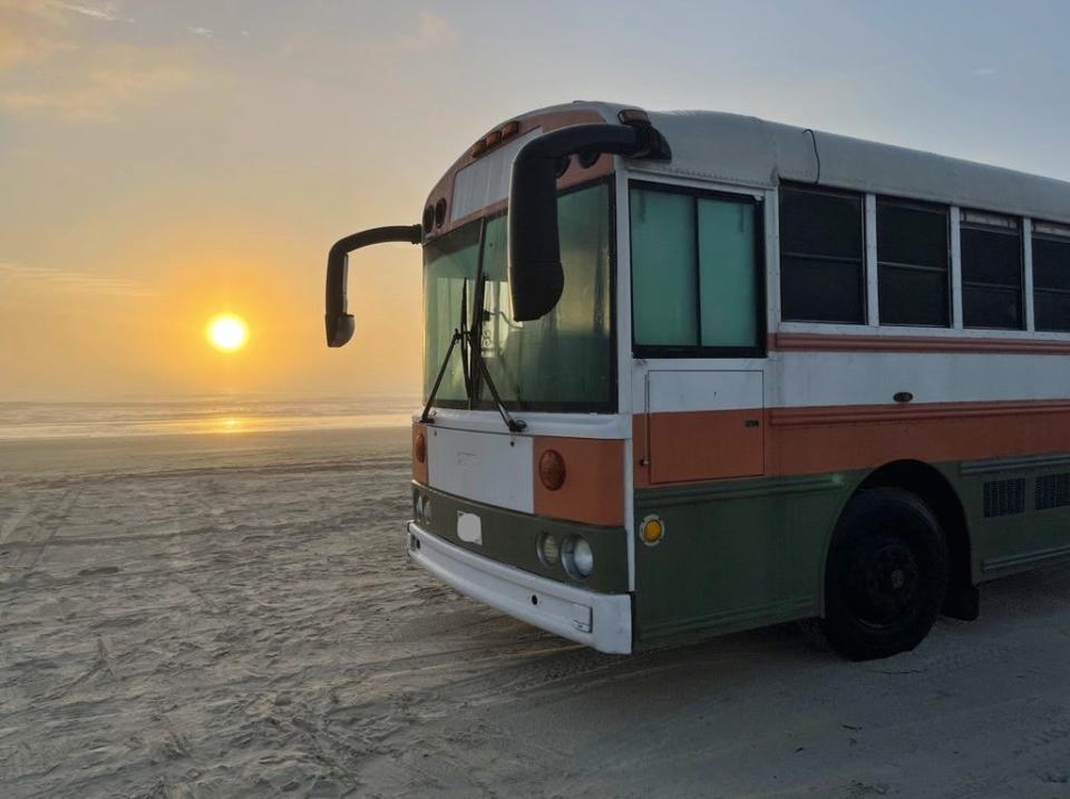
<path id="1" fill-rule="evenodd" d="M 955 489 L 937 469 L 920 460 L 896 460 L 869 475 L 856 490 L 902 488 L 924 501 L 947 539 L 949 595 L 973 588 L 970 529 Z"/>

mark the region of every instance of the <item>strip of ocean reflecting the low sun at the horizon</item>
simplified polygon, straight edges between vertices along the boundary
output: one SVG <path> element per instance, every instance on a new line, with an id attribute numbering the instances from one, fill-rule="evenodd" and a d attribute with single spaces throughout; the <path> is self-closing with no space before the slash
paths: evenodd
<path id="1" fill-rule="evenodd" d="M 0 402 L 0 440 L 405 427 L 419 406 L 418 398 L 391 394 Z"/>

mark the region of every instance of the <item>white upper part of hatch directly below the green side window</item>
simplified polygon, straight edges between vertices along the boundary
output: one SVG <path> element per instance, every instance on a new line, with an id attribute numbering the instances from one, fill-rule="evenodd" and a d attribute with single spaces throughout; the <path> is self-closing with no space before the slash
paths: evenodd
<path id="1" fill-rule="evenodd" d="M 741 410 L 761 408 L 761 372 L 651 370 L 649 410 Z"/>

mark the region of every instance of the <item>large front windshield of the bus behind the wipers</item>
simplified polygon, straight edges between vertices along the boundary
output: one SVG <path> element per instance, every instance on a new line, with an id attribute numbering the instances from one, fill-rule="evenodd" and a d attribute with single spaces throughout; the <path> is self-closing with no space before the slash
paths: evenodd
<path id="1" fill-rule="evenodd" d="M 513 320 L 505 214 L 469 223 L 426 245 L 425 399 L 454 331 L 478 325 L 483 360 L 510 410 L 614 410 L 610 186 L 588 185 L 563 193 L 557 202 L 565 288 L 556 308 L 534 322 Z M 477 306 L 481 314 L 474 313 Z M 470 366 L 469 374 L 476 374 Z M 493 408 L 486 381 L 466 380 L 465 374 L 463 355 L 454 353 L 435 403 Z"/>

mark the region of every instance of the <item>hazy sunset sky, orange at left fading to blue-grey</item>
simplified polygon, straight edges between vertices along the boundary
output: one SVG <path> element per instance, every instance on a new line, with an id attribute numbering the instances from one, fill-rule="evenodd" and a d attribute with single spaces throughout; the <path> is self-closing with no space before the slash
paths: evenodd
<path id="1" fill-rule="evenodd" d="M 419 391 L 419 221 L 574 99 L 752 114 L 1070 179 L 1070 4 L 0 0 L 0 400 Z M 213 350 L 233 312 L 249 345 Z"/>

